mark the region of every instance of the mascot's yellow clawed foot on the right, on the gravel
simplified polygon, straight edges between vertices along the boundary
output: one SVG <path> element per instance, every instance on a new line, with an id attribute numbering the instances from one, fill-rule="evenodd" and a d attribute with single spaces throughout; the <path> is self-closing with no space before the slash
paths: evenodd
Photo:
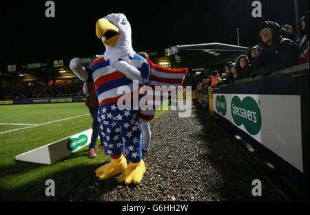
<path id="1" fill-rule="evenodd" d="M 132 182 L 138 184 L 142 181 L 143 174 L 145 172 L 145 164 L 144 161 L 141 160 L 138 163 L 132 163 L 128 165 L 127 169 L 118 177 L 118 182 L 125 181 L 125 184 L 128 185 Z"/>

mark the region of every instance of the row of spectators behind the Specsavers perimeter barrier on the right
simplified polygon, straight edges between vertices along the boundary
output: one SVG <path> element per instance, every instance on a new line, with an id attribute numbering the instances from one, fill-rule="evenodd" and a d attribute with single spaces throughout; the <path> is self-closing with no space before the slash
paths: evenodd
<path id="1" fill-rule="evenodd" d="M 309 11 L 300 19 L 302 37 L 296 38 L 291 25 L 280 27 L 278 23 L 264 21 L 260 24 L 259 36 L 262 43 L 240 55 L 234 63 L 225 64 L 225 75 L 215 73 L 201 80 L 196 89 L 209 86 L 234 84 L 234 81 L 256 76 L 269 76 L 273 71 L 298 64 L 309 63 Z M 283 36 L 282 36 L 283 35 Z"/>

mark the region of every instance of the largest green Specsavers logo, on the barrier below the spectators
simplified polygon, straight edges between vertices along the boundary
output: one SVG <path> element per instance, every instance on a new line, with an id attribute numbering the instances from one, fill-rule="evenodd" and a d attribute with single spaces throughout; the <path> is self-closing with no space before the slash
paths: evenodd
<path id="1" fill-rule="evenodd" d="M 260 115 L 260 107 L 256 101 L 247 96 L 242 101 L 238 96 L 234 96 L 231 100 L 231 115 L 237 126 L 245 126 L 247 132 L 256 135 L 262 126 L 262 117 Z"/>

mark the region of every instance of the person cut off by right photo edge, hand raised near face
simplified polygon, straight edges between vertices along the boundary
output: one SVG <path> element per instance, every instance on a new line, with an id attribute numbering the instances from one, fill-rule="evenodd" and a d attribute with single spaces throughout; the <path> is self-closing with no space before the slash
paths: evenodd
<path id="1" fill-rule="evenodd" d="M 309 11 L 304 14 L 302 19 L 300 19 L 301 23 L 301 30 L 302 36 L 301 38 L 296 39 L 296 43 L 298 45 L 298 50 L 299 50 L 299 59 L 298 63 L 308 63 L 309 62 Z M 291 25 L 285 25 L 287 27 L 287 33 L 291 35 L 290 38 L 295 40 L 295 32 L 293 30 L 293 26 Z"/>

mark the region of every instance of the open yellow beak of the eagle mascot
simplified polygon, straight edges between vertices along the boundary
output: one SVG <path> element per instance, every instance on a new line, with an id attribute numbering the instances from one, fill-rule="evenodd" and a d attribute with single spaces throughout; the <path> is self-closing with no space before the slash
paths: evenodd
<path id="1" fill-rule="evenodd" d="M 98 38 L 103 37 L 103 43 L 105 45 L 114 47 L 121 32 L 112 22 L 103 18 L 99 19 L 99 21 L 96 23 L 96 34 Z"/>

